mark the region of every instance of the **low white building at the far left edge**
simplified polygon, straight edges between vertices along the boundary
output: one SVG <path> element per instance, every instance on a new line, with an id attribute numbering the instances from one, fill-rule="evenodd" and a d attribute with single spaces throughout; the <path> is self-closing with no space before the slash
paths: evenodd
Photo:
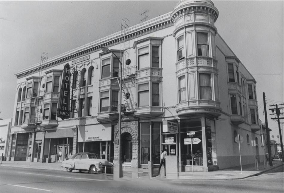
<path id="1" fill-rule="evenodd" d="M 0 118 L 0 157 L 2 160 L 7 159 L 8 152 L 8 141 L 11 129 L 12 119 L 1 119 Z M 1 159 L 0 159 L 1 160 Z"/>

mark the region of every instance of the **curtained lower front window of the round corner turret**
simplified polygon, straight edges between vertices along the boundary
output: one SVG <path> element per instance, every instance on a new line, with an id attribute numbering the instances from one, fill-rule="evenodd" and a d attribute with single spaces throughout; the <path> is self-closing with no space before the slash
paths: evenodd
<path id="1" fill-rule="evenodd" d="M 199 74 L 200 99 L 212 99 L 211 75 Z"/>

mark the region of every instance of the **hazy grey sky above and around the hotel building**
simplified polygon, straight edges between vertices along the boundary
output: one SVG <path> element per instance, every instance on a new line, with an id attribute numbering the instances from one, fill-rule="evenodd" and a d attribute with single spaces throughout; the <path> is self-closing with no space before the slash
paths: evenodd
<path id="1" fill-rule="evenodd" d="M 213 1 L 219 10 L 218 33 L 256 80 L 259 118 L 284 102 L 284 1 Z M 178 1 L 0 1 L 0 118 L 12 118 L 19 70 L 98 38 L 120 31 L 121 19 L 130 26 L 173 10 Z M 270 112 L 268 112 L 269 114 Z M 270 120 L 274 140 L 278 123 Z M 284 121 L 282 121 L 284 122 Z M 283 126 L 284 124 L 282 124 Z"/>

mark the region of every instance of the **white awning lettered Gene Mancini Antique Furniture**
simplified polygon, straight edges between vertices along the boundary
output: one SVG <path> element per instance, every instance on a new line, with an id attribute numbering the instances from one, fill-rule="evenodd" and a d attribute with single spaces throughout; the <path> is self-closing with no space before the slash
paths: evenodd
<path id="1" fill-rule="evenodd" d="M 79 126 L 78 142 L 112 140 L 112 124 Z"/>

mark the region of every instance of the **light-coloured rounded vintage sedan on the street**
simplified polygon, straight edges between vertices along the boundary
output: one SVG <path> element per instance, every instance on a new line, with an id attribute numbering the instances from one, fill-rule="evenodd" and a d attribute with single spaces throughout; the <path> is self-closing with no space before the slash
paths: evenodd
<path id="1" fill-rule="evenodd" d="M 112 168 L 113 164 L 107 160 L 100 159 L 95 153 L 77 153 L 68 160 L 62 161 L 61 167 L 66 168 L 67 172 L 72 172 L 74 169 L 88 171 L 89 173 L 104 172 L 105 167 Z"/>

